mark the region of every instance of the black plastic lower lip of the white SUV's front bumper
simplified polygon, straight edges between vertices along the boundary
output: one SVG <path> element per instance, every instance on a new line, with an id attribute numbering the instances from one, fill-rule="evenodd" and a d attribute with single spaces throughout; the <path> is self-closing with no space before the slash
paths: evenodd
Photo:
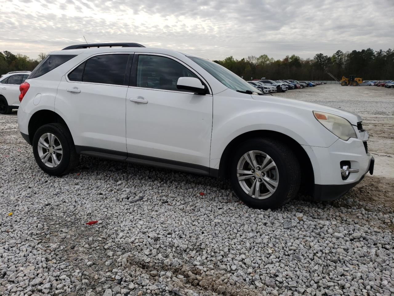
<path id="1" fill-rule="evenodd" d="M 375 165 L 375 159 L 374 159 L 374 157 L 372 157 L 370 160 L 369 168 L 368 168 L 368 172 L 370 172 L 371 175 L 374 173 L 374 165 Z M 314 184 L 313 199 L 314 200 L 338 199 L 342 195 L 345 195 L 355 185 L 359 184 L 362 181 L 362 179 L 364 179 L 364 176 L 366 175 L 366 173 L 362 175 L 360 180 L 353 182 L 353 183 L 347 183 L 347 184 L 341 184 L 341 185 Z"/>

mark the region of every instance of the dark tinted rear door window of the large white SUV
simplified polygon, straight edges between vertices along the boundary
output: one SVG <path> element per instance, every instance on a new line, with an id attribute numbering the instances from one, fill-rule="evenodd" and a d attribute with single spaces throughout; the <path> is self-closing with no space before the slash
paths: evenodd
<path id="1" fill-rule="evenodd" d="M 123 85 L 128 56 L 128 54 L 93 56 L 93 58 L 86 61 L 82 81 Z M 76 71 L 75 76 L 78 78 L 80 71 L 82 71 L 80 66 L 74 71 Z"/>

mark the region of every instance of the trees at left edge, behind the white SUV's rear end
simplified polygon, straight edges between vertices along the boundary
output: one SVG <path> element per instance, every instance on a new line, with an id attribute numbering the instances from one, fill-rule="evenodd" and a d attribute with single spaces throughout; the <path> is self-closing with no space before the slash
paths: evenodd
<path id="1" fill-rule="evenodd" d="M 11 71 L 32 71 L 45 57 L 45 53 L 40 53 L 37 59 L 31 59 L 24 54 L 0 52 L 0 76 Z"/>

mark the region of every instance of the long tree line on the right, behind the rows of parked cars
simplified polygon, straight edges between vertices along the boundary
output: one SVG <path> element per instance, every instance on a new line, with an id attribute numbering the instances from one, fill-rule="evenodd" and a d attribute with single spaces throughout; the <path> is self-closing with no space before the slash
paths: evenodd
<path id="1" fill-rule="evenodd" d="M 297 79 L 297 80 L 333 80 L 327 72 L 341 79 L 342 75 L 356 75 L 364 80 L 394 79 L 394 51 L 363 49 L 361 51 L 336 51 L 332 56 L 318 53 L 313 59 L 302 59 L 293 54 L 282 60 L 261 56 L 248 56 L 240 60 L 229 56 L 214 62 L 226 67 L 245 80 Z"/>

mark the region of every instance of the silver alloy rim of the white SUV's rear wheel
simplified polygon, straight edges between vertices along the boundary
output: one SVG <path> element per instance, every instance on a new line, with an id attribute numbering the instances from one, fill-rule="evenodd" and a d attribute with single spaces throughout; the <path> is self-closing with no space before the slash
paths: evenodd
<path id="1" fill-rule="evenodd" d="M 63 149 L 59 139 L 52 133 L 43 134 L 37 144 L 38 155 L 47 167 L 57 167 L 63 159 Z"/>

